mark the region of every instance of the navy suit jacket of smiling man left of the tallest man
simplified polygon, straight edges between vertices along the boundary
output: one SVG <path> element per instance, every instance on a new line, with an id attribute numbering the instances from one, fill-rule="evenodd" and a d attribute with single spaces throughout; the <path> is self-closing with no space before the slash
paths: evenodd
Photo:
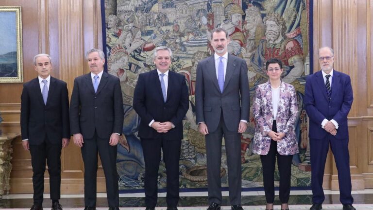
<path id="1" fill-rule="evenodd" d="M 134 109 L 141 118 L 138 137 L 154 139 L 163 135 L 166 140 L 182 140 L 183 118 L 188 107 L 188 88 L 185 76 L 182 74 L 169 71 L 166 102 L 163 99 L 157 70 L 138 76 L 134 93 Z M 152 120 L 156 122 L 169 121 L 175 127 L 167 133 L 158 133 L 149 126 Z"/>

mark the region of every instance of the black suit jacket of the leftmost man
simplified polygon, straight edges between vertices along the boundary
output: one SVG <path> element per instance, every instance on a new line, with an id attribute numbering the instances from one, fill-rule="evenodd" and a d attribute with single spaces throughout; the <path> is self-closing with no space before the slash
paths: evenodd
<path id="1" fill-rule="evenodd" d="M 70 138 L 68 88 L 64 81 L 51 77 L 46 105 L 38 78 L 23 85 L 21 134 L 31 145 L 41 144 L 46 137 L 53 144 L 62 143 L 62 138 Z"/>

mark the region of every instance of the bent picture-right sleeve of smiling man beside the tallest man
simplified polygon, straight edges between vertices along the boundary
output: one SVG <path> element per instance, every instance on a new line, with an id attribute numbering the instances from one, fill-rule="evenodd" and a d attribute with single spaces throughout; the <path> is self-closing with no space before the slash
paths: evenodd
<path id="1" fill-rule="evenodd" d="M 186 79 L 185 76 L 181 77 L 181 97 L 179 102 L 179 107 L 176 111 L 176 115 L 171 119 L 171 123 L 174 125 L 180 123 L 183 121 L 183 118 L 185 117 L 186 112 L 189 108 L 189 99 L 188 99 L 188 88 L 186 86 Z"/>

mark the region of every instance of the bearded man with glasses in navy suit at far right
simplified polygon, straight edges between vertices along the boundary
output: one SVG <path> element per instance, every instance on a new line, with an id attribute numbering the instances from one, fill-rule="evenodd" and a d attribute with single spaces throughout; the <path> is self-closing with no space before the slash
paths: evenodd
<path id="1" fill-rule="evenodd" d="M 338 170 L 339 200 L 343 210 L 355 210 L 351 195 L 350 156 L 348 153 L 347 115 L 353 102 L 351 79 L 333 70 L 334 52 L 319 49 L 321 71 L 309 75 L 305 84 L 305 109 L 309 122 L 311 152 L 312 207 L 321 210 L 325 199 L 322 190 L 326 156 L 332 148 Z"/>

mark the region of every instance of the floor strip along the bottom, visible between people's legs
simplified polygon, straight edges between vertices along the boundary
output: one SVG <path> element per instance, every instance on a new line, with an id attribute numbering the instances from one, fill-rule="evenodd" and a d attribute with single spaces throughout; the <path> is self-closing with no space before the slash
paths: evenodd
<path id="1" fill-rule="evenodd" d="M 325 190 L 325 201 L 323 209 L 341 210 L 342 205 L 339 202 L 339 191 Z M 222 201 L 222 210 L 230 210 L 228 192 L 224 191 Z M 312 192 L 310 190 L 292 190 L 290 193 L 289 205 L 292 210 L 309 209 L 312 203 Z M 354 204 L 357 210 L 373 210 L 373 189 L 364 191 L 353 191 Z M 276 191 L 278 195 L 278 191 Z M 119 195 L 121 210 L 140 210 L 144 208 L 144 193 L 121 193 Z M 32 206 L 32 194 L 10 194 L 4 195 L 0 199 L 0 209 L 27 209 Z M 79 209 L 84 207 L 84 196 L 81 194 L 61 195 L 60 203 L 64 210 Z M 105 193 L 97 194 L 97 208 L 107 209 Z M 157 210 L 166 210 L 166 193 L 158 193 Z M 275 197 L 275 209 L 280 209 L 278 196 Z M 266 200 L 263 191 L 242 192 L 242 206 L 244 210 L 264 210 Z M 179 201 L 179 210 L 205 210 L 208 206 L 207 192 L 181 192 Z M 44 208 L 51 207 L 49 194 L 44 194 Z"/>

